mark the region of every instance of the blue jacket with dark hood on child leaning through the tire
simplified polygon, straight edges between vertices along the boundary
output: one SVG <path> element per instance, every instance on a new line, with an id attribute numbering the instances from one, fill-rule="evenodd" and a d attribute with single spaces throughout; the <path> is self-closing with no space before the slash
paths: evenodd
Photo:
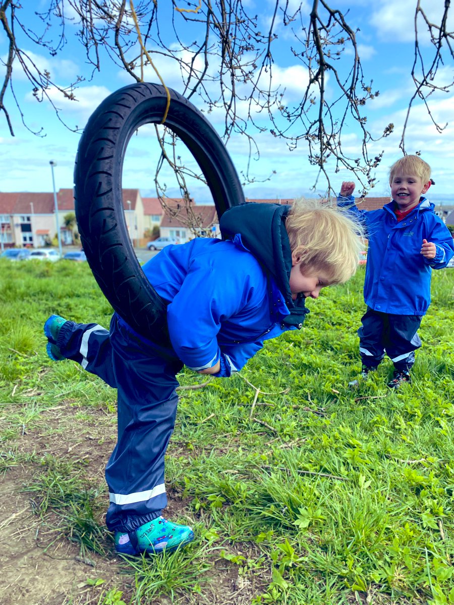
<path id="1" fill-rule="evenodd" d="M 285 218 L 290 206 L 247 203 L 226 211 L 228 241 L 196 238 L 166 246 L 143 265 L 167 306 L 176 356 L 192 370 L 240 370 L 268 338 L 301 327 L 308 309 L 293 301 Z"/>

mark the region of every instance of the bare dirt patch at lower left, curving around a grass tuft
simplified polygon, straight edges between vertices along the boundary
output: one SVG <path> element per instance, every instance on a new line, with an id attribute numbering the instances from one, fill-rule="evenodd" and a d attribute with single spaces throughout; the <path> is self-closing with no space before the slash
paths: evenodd
<path id="1" fill-rule="evenodd" d="M 82 424 L 75 424 L 76 414 L 77 409 L 69 403 L 42 412 L 33 428 L 22 427 L 22 434 L 12 440 L 16 458 L 50 454 L 61 460 L 76 455 L 84 465 L 85 477 L 99 484 L 114 445 L 115 427 L 102 421 L 102 411 L 95 411 L 93 419 Z M 97 603 L 102 591 L 111 587 L 124 590 L 126 595 L 133 577 L 125 582 L 125 563 L 114 552 L 110 558 L 93 552 L 81 557 L 80 545 L 53 527 L 52 515 L 42 520 L 37 514 L 37 494 L 25 492 L 24 488 L 30 486 L 33 475 L 40 470 L 36 462 L 22 463 L 7 469 L 2 479 L 0 604 Z M 87 583 L 97 578 L 104 583 L 97 587 Z"/>

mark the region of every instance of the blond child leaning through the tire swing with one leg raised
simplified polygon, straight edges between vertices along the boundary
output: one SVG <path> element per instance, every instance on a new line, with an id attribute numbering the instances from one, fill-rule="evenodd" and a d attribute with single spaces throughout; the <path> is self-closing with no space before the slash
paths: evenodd
<path id="1" fill-rule="evenodd" d="M 164 455 L 183 364 L 230 376 L 266 339 L 301 328 L 305 298 L 357 268 L 358 224 L 327 206 L 242 204 L 223 214 L 220 229 L 226 241 L 167 246 L 143 266 L 166 304 L 169 347 L 143 338 L 117 313 L 110 331 L 57 315 L 44 325 L 51 359 L 73 359 L 117 388 L 106 523 L 122 554 L 169 552 L 194 537 L 189 526 L 162 517 Z"/>

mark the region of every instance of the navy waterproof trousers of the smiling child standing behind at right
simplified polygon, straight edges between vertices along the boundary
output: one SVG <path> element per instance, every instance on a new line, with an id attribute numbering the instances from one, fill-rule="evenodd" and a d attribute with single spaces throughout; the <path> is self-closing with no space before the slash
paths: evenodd
<path id="1" fill-rule="evenodd" d="M 396 370 L 409 370 L 415 363 L 415 350 L 421 347 L 421 319 L 420 315 L 390 315 L 367 307 L 358 330 L 363 365 L 377 366 L 386 352 Z"/>

